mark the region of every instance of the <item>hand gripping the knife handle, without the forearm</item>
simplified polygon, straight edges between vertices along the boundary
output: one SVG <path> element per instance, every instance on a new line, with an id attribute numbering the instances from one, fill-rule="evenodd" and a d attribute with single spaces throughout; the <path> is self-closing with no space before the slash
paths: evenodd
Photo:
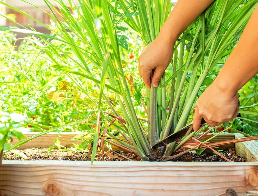
<path id="1" fill-rule="evenodd" d="M 211 127 L 231 121 L 239 111 L 238 93 L 227 93 L 214 82 L 196 101 L 193 129 L 198 131 L 202 118 Z"/>

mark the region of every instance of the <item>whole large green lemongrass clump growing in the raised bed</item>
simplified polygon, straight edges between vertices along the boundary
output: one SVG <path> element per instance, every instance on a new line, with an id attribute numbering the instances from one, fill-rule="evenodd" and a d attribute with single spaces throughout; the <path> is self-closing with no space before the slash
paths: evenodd
<path id="1" fill-rule="evenodd" d="M 228 46 L 236 42 L 257 0 L 249 0 L 242 7 L 240 6 L 242 2 L 240 0 L 217 0 L 182 34 L 180 40 L 175 44 L 172 75 L 170 77 L 164 75 L 158 88 L 151 87 L 151 93 L 147 93 L 151 100 L 151 103 L 147 104 L 150 114 L 148 130 L 145 130 L 143 125 L 146 121 L 139 119 L 134 109 L 121 62 L 114 19 L 116 17 L 123 19 L 133 30 L 139 33 L 144 44 L 148 44 L 157 37 L 160 27 L 167 19 L 171 11 L 170 1 L 127 0 L 111 3 L 108 0 L 80 0 L 79 4 L 76 5 L 72 0 L 69 0 L 68 6 L 62 0 L 55 0 L 56 5 L 48 0 L 44 0 L 44 2 L 51 10 L 50 13 L 29 4 L 47 14 L 54 21 L 57 30 L 51 29 L 50 26 L 37 21 L 20 9 L 4 2 L 0 3 L 51 30 L 51 35 L 37 32 L 33 27 L 30 27 L 32 30 L 29 30 L 25 26 L 21 26 L 20 29 L 9 27 L 0 27 L 0 29 L 41 37 L 44 41 L 42 49 L 48 54 L 54 64 L 53 66 L 70 77 L 86 95 L 88 93 L 79 77 L 95 82 L 99 88 L 100 97 L 98 102 L 99 123 L 95 134 L 93 155 L 96 151 L 97 137 L 100 131 L 103 131 L 103 135 L 108 134 L 108 137 L 100 137 L 107 142 L 136 153 L 142 160 L 157 161 L 174 158 L 175 156 L 170 155 L 193 136 L 193 133 L 188 135 L 179 144 L 174 142 L 170 145 L 169 150 L 165 147 L 157 150 L 151 147 L 155 142 L 168 136 L 171 132 L 178 131 L 187 123 L 190 110 L 207 74 L 220 59 L 231 52 L 228 51 Z M 75 8 L 73 13 L 70 12 L 69 7 Z M 112 15 L 110 13 L 111 8 L 113 10 Z M 192 28 L 195 30 L 193 31 Z M 186 40 L 189 35 L 193 37 L 191 43 Z M 72 36 L 76 36 L 82 44 L 77 45 Z M 56 45 L 51 39 L 69 45 L 73 54 L 63 51 L 62 47 Z M 188 51 L 185 53 L 186 47 Z M 73 65 L 62 63 L 62 56 L 69 58 Z M 89 63 L 86 59 L 89 59 L 90 64 L 100 70 L 102 73 L 101 79 L 96 78 L 90 72 Z M 190 79 L 187 77 L 189 73 L 191 73 Z M 168 86 L 170 93 L 167 95 L 166 87 Z M 106 89 L 116 94 L 123 111 L 122 116 L 117 114 L 106 97 Z M 90 99 L 90 96 L 88 98 Z M 108 127 L 111 124 L 114 125 L 122 138 L 117 138 L 111 134 L 108 127 L 105 129 L 100 127 L 102 100 L 106 101 L 112 110 L 112 114 L 107 114 L 114 117 L 114 121 L 110 122 Z M 168 114 L 166 114 L 167 106 L 170 108 Z M 120 122 L 120 125 L 114 123 L 116 120 Z"/>

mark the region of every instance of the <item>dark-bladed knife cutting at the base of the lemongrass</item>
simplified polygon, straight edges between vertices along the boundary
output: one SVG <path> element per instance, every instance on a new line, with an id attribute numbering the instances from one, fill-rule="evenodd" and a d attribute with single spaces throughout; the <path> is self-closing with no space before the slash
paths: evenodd
<path id="1" fill-rule="evenodd" d="M 204 119 L 202 119 L 201 121 L 201 128 L 206 124 L 206 122 L 204 121 Z M 158 143 L 156 143 L 155 145 L 152 146 L 152 149 L 156 149 L 162 146 L 165 146 L 167 144 L 170 144 L 182 137 L 184 137 L 185 135 L 188 135 L 189 133 L 193 132 L 193 123 L 181 128 L 179 131 L 172 133 L 171 135 L 169 135 L 168 137 L 164 138 L 163 140 L 159 141 Z"/>

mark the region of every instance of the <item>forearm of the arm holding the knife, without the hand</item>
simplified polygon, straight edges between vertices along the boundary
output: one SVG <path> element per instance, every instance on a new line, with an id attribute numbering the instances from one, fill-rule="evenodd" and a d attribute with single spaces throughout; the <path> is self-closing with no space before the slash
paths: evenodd
<path id="1" fill-rule="evenodd" d="M 240 40 L 221 69 L 215 84 L 234 95 L 258 73 L 258 8 L 246 25 Z"/>

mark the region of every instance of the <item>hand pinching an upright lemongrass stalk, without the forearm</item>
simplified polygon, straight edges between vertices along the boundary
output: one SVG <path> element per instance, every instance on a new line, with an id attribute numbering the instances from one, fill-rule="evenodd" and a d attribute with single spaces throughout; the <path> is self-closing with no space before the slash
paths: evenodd
<path id="1" fill-rule="evenodd" d="M 157 37 L 147 45 L 139 56 L 139 74 L 143 82 L 150 89 L 150 82 L 154 87 L 158 83 L 173 57 L 174 43 L 169 43 L 164 37 Z M 154 70 L 152 81 L 150 75 Z"/>

